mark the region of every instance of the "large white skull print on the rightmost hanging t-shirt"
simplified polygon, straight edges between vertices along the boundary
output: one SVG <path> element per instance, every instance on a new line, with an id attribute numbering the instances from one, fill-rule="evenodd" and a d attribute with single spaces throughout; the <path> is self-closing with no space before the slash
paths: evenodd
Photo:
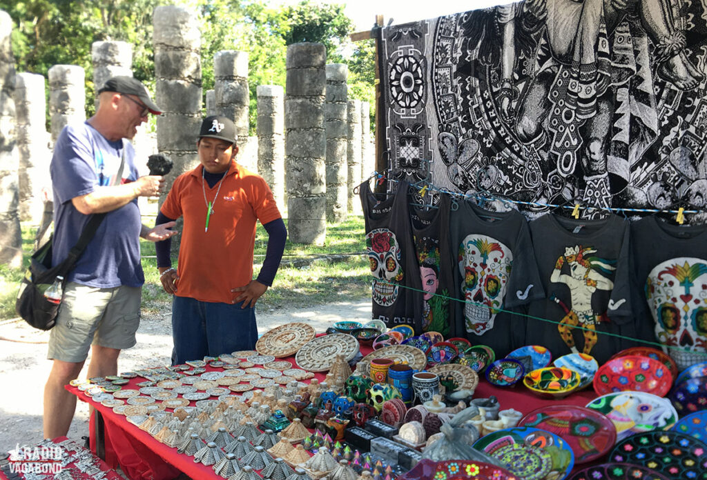
<path id="1" fill-rule="evenodd" d="M 645 284 L 655 335 L 682 370 L 707 351 L 707 263 L 701 258 L 672 258 L 653 268 Z M 689 349 L 690 352 L 684 352 Z"/>

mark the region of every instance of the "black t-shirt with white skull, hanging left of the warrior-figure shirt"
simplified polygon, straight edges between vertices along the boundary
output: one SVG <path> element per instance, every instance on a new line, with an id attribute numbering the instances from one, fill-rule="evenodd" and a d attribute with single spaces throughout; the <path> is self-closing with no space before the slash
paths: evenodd
<path id="1" fill-rule="evenodd" d="M 544 297 L 525 217 L 460 202 L 450 215 L 455 301 L 452 335 L 503 358 L 524 345 L 518 307 Z"/>

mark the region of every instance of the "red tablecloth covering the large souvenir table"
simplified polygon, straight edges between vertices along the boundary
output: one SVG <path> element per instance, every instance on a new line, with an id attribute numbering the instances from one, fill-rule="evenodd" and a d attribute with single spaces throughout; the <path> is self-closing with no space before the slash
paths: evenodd
<path id="1" fill-rule="evenodd" d="M 361 353 L 365 356 L 370 353 L 370 347 L 361 347 Z M 286 360 L 295 364 L 294 357 Z M 207 367 L 207 370 L 216 370 Z M 320 381 L 325 378 L 324 373 L 315 374 L 315 378 Z M 134 378 L 124 388 L 137 388 L 136 384 L 144 381 L 143 378 Z M 192 457 L 177 453 L 176 448 L 168 447 L 155 440 L 149 433 L 141 431 L 137 426 L 130 424 L 125 416 L 116 414 L 112 409 L 104 407 L 100 403 L 95 403 L 90 397 L 84 395 L 78 388 L 66 385 L 66 390 L 76 395 L 84 402 L 88 402 L 98 409 L 105 421 L 105 462 L 111 467 L 120 465 L 123 472 L 133 480 L 168 480 L 178 476 L 183 472 L 192 479 L 220 479 L 214 474 L 211 467 L 206 467 L 199 463 L 194 463 Z M 479 385 L 474 397 L 489 397 L 495 395 L 501 403 L 501 409 L 513 408 L 527 414 L 532 410 L 542 407 L 548 402 L 562 402 L 563 404 L 573 404 L 584 406 L 593 400 L 596 395 L 591 389 L 583 390 L 563 400 L 543 400 L 533 395 L 522 385 L 514 388 L 497 388 L 486 382 L 479 380 Z M 193 405 L 195 402 L 192 402 Z M 91 450 L 95 452 L 94 419 L 90 419 Z"/>

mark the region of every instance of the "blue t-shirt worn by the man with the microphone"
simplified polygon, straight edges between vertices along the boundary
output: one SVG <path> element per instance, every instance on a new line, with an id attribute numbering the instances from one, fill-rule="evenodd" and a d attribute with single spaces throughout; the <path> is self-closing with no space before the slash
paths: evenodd
<path id="1" fill-rule="evenodd" d="M 114 184 L 123 149 L 125 166 L 119 183 L 128 183 L 139 174 L 135 151 L 127 140 L 107 140 L 86 122 L 62 130 L 49 167 L 54 190 L 53 265 L 66 258 L 90 219 L 76 210 L 71 199 Z M 145 282 L 141 227 L 137 200 L 108 212 L 67 280 L 98 288 L 140 287 Z"/>

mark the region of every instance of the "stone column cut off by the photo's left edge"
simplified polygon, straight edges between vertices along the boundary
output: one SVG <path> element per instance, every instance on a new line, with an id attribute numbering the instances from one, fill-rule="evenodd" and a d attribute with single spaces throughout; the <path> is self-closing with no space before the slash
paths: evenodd
<path id="1" fill-rule="evenodd" d="M 22 232 L 18 215 L 20 154 L 15 133 L 15 57 L 12 20 L 0 10 L 0 264 L 22 266 Z"/>

